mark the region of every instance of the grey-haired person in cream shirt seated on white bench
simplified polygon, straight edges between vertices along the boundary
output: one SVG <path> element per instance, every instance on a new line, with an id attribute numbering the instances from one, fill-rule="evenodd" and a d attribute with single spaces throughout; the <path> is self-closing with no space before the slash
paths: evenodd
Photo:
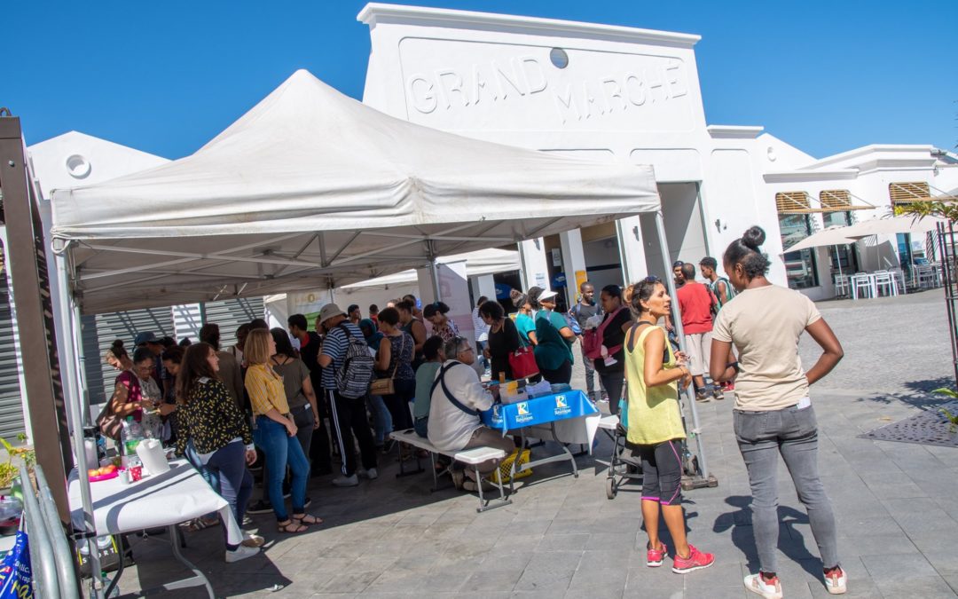
<path id="1" fill-rule="evenodd" d="M 445 356 L 447 359 L 432 383 L 427 431 L 429 443 L 443 451 L 486 447 L 502 449 L 506 455 L 512 453 L 515 449 L 513 440 L 484 426 L 479 418 L 479 412 L 492 407 L 493 394 L 497 395 L 498 389 L 493 387 L 491 392 L 488 391 L 473 370 L 474 344 L 466 337 L 452 337 L 445 342 Z M 479 464 L 480 477 L 485 478 L 499 467 L 501 461 L 496 458 Z M 480 484 L 472 469 L 466 472 L 453 470 L 452 481 L 457 489 L 467 491 L 476 491 Z"/>

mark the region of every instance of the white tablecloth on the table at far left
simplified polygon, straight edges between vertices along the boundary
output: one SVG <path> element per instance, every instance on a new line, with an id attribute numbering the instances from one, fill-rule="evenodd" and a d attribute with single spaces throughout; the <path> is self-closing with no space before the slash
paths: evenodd
<path id="1" fill-rule="evenodd" d="M 128 485 L 120 478 L 90 483 L 93 516 L 99 535 L 117 535 L 159 528 L 218 512 L 226 523 L 227 542 L 239 544 L 242 531 L 230 505 L 217 495 L 186 460 L 170 463 L 170 472 L 146 476 Z M 83 525 L 83 503 L 77 471 L 70 472 L 71 518 Z"/>

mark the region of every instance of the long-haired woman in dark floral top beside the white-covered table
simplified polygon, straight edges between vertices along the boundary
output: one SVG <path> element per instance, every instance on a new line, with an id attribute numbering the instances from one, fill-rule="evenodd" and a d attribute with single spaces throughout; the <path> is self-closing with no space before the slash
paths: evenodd
<path id="1" fill-rule="evenodd" d="M 193 444 L 199 463 L 217 473 L 219 495 L 241 524 L 253 490 L 253 477 L 246 470 L 247 464 L 256 461 L 253 433 L 218 378 L 219 358 L 213 346 L 195 343 L 188 347 L 178 370 L 176 453 L 183 455 L 187 444 Z M 258 552 L 257 546 L 226 543 L 227 562 L 239 562 Z"/>

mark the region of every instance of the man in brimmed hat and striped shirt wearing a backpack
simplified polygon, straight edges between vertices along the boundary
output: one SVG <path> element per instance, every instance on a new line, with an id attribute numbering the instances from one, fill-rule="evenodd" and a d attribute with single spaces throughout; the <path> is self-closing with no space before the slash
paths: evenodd
<path id="1" fill-rule="evenodd" d="M 369 427 L 366 416 L 366 398 L 345 398 L 336 388 L 336 371 L 343 366 L 343 358 L 352 335 L 363 339 L 359 327 L 346 318 L 346 312 L 335 304 L 327 304 L 319 311 L 318 320 L 322 324 L 323 349 L 319 353 L 319 365 L 323 367 L 323 393 L 326 394 L 332 408 L 332 426 L 336 427 L 336 439 L 339 451 L 343 457 L 343 475 L 334 478 L 332 484 L 337 487 L 354 487 L 359 484 L 356 476 L 356 456 L 354 451 L 353 435 L 359 443 L 359 453 L 362 458 L 363 470 L 370 479 L 378 476 L 376 472 L 376 444 L 373 440 L 373 430 Z M 363 340 L 363 344 L 365 344 Z M 353 434 L 350 434 L 352 430 Z"/>

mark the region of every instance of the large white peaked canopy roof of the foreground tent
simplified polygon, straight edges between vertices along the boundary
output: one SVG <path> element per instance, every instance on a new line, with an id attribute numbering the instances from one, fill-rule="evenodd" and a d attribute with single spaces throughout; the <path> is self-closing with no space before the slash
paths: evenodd
<path id="1" fill-rule="evenodd" d="M 53 193 L 84 312 L 335 288 L 659 210 L 650 167 L 490 144 L 297 71 L 193 155 Z"/>

